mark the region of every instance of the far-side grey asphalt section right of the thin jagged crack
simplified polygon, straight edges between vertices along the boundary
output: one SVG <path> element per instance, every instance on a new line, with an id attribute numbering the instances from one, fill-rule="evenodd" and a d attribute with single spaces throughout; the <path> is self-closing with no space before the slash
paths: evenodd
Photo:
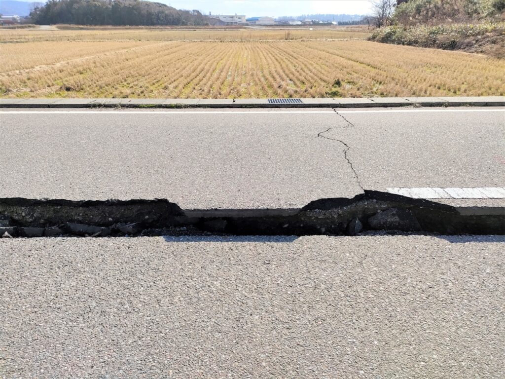
<path id="1" fill-rule="evenodd" d="M 364 188 L 501 187 L 505 113 L 346 113 L 342 139 Z M 479 185 L 482 183 L 483 185 Z M 382 188 L 382 189 L 381 189 Z"/>

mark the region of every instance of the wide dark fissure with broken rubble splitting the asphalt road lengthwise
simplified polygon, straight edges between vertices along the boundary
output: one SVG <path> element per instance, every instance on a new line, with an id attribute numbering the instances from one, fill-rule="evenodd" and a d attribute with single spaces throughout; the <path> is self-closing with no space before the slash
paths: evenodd
<path id="1" fill-rule="evenodd" d="M 182 210 L 165 199 L 0 199 L 0 236 L 505 234 L 505 208 L 456 208 L 365 191 L 301 209 Z"/>

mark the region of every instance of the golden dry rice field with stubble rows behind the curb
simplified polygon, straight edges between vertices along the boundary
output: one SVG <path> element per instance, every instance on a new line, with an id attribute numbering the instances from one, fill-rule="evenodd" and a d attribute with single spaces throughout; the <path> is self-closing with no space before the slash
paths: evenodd
<path id="1" fill-rule="evenodd" d="M 505 60 L 362 29 L 2 30 L 0 97 L 493 96 Z"/>

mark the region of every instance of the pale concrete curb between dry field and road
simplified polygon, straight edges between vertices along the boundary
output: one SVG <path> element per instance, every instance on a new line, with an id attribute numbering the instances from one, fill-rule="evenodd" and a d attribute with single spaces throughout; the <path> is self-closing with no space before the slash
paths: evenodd
<path id="1" fill-rule="evenodd" d="M 0 99 L 0 108 L 392 108 L 505 107 L 505 97 L 425 97 L 300 99 L 271 104 L 268 99 Z"/>

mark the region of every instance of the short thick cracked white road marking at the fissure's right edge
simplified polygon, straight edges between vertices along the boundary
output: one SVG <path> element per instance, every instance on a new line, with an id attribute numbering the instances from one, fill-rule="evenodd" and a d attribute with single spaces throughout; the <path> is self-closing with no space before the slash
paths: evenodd
<path id="1" fill-rule="evenodd" d="M 393 187 L 386 189 L 390 194 L 413 199 L 505 199 L 505 187 Z"/>

